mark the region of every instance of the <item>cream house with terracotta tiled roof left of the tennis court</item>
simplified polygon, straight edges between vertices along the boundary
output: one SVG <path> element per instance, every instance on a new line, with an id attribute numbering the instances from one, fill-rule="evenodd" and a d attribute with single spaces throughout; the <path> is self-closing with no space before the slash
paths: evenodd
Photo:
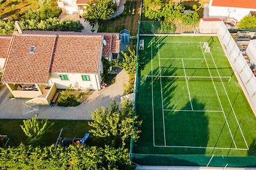
<path id="1" fill-rule="evenodd" d="M 14 97 L 49 97 L 52 89 L 66 89 L 70 85 L 100 90 L 101 57 L 111 60 L 114 54 L 118 55 L 118 38 L 116 33 L 15 33 L 8 37 L 10 46 L 6 40 L 8 54 L 5 51 L 1 81 Z"/>

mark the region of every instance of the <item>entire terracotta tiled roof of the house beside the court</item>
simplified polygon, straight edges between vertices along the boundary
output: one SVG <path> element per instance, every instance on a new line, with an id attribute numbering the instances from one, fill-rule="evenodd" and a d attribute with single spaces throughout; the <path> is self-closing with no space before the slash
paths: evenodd
<path id="1" fill-rule="evenodd" d="M 106 38 L 107 46 L 103 46 Z M 47 83 L 49 73 L 98 73 L 99 59 L 119 52 L 113 33 L 24 31 L 13 34 L 5 64 L 4 83 Z M 29 47 L 35 46 L 35 53 Z M 102 53 L 101 53 L 102 52 Z"/>

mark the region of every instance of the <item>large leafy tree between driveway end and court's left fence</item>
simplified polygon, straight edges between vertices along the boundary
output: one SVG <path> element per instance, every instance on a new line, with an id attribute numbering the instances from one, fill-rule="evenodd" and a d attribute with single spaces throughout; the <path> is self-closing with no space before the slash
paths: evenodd
<path id="1" fill-rule="evenodd" d="M 118 103 L 110 103 L 110 109 L 102 107 L 92 112 L 92 127 L 90 132 L 93 136 L 104 138 L 106 143 L 116 147 L 124 147 L 133 138 L 137 141 L 140 137 L 140 125 L 142 121 L 132 114 L 131 101 L 124 101 L 122 110 L 118 110 Z"/>

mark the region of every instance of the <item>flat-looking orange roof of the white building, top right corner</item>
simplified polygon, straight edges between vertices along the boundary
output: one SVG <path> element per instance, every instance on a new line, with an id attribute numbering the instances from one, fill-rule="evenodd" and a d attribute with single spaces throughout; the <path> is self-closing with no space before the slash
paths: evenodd
<path id="1" fill-rule="evenodd" d="M 212 6 L 256 9 L 256 0 L 212 0 Z"/>

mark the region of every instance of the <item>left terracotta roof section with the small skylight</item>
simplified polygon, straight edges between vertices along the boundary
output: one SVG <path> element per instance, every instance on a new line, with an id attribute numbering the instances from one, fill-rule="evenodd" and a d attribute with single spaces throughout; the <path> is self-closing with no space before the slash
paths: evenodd
<path id="1" fill-rule="evenodd" d="M 4 66 L 4 83 L 47 83 L 55 36 L 13 34 Z M 35 53 L 29 53 L 30 46 Z"/>

